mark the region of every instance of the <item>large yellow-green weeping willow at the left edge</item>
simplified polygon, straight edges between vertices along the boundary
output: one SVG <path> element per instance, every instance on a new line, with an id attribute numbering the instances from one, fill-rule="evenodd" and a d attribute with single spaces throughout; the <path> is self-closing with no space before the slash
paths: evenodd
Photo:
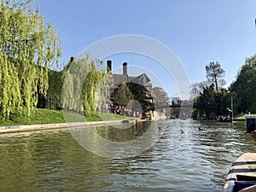
<path id="1" fill-rule="evenodd" d="M 59 38 L 31 0 L 0 3 L 0 118 L 30 116 L 48 89 L 48 68 L 61 56 Z"/>

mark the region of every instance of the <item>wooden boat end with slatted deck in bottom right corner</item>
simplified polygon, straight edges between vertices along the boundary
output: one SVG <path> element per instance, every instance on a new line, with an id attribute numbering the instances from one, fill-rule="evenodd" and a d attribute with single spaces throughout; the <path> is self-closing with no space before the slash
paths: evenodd
<path id="1" fill-rule="evenodd" d="M 223 192 L 256 191 L 256 153 L 241 154 L 230 168 Z"/>

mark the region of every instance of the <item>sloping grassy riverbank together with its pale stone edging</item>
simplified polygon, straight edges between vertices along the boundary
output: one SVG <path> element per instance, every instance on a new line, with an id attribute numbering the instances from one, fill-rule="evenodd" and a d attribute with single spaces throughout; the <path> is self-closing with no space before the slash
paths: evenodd
<path id="1" fill-rule="evenodd" d="M 91 117 L 84 117 L 79 113 L 64 112 L 38 108 L 32 117 L 13 117 L 8 121 L 0 122 L 0 134 L 20 131 L 40 131 L 48 129 L 69 128 L 86 125 L 109 125 L 120 123 L 124 119 L 131 119 L 113 113 L 102 113 Z M 68 123 L 67 123 L 67 122 Z"/>

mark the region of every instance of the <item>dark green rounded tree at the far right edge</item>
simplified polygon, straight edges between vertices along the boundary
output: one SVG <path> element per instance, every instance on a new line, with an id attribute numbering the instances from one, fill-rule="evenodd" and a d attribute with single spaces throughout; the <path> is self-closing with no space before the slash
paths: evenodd
<path id="1" fill-rule="evenodd" d="M 230 85 L 237 112 L 256 112 L 256 55 L 248 58 L 241 67 L 236 81 Z"/>

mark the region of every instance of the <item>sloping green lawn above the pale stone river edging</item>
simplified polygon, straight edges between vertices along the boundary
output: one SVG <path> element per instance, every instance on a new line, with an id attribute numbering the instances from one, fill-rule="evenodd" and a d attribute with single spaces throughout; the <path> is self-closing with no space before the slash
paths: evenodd
<path id="1" fill-rule="evenodd" d="M 60 110 L 50 110 L 45 108 L 38 108 L 32 117 L 11 117 L 7 121 L 0 122 L 0 126 L 7 125 L 38 125 L 38 124 L 56 124 L 65 122 L 83 122 L 83 121 L 101 121 L 101 120 L 121 120 L 129 119 L 128 117 L 112 114 L 102 113 L 90 117 L 84 117 L 79 113 L 65 112 L 65 119 Z"/>

